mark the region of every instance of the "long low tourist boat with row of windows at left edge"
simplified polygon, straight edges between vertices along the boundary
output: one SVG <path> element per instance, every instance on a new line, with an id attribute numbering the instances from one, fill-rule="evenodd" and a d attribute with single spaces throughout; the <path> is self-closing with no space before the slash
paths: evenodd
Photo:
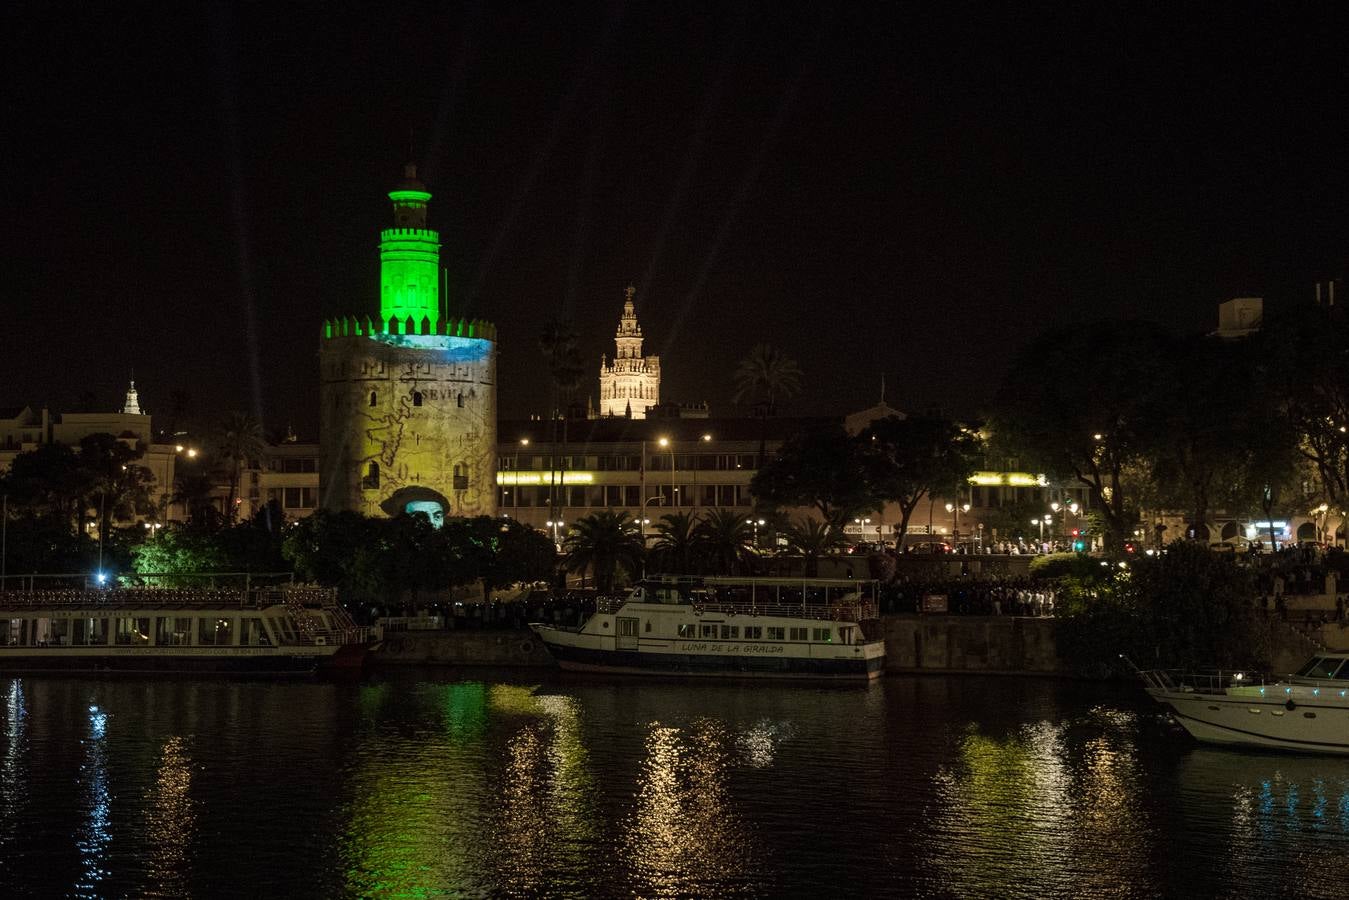
<path id="1" fill-rule="evenodd" d="M 0 592 L 0 672 L 312 675 L 370 633 L 328 588 Z"/>

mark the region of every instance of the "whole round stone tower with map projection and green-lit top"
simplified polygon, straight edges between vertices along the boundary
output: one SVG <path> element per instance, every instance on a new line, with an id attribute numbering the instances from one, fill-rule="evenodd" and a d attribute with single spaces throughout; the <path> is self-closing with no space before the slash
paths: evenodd
<path id="1" fill-rule="evenodd" d="M 379 317 L 324 322 L 324 509 L 367 515 L 496 513 L 496 329 L 441 316 L 440 235 L 409 165 L 379 240 Z"/>

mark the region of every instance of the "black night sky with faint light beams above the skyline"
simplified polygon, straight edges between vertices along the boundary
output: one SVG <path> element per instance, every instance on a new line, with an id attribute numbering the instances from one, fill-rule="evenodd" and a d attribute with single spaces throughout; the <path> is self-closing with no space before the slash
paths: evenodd
<path id="1" fill-rule="evenodd" d="M 884 372 L 973 414 L 1051 324 L 1211 329 L 1342 274 L 1333 4 L 831 5 L 8 4 L 0 406 L 135 370 L 151 413 L 313 436 L 409 152 L 503 417 L 544 412 L 554 316 L 596 393 L 629 283 L 665 399 L 722 409 L 769 341 L 791 412 Z"/>

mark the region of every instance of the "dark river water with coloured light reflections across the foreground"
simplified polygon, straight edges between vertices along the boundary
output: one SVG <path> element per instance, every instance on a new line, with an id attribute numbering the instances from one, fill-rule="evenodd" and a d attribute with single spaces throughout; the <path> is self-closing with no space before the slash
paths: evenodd
<path id="1" fill-rule="evenodd" d="M 1132 687 L 0 680 L 3 896 L 1345 897 L 1349 760 Z"/>

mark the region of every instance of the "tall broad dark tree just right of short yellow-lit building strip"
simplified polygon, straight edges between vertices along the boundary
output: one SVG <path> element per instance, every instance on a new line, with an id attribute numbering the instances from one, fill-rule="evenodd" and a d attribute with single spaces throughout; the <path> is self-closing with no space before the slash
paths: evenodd
<path id="1" fill-rule="evenodd" d="M 1017 355 L 994 403 L 996 440 L 1023 464 L 1083 484 L 1112 549 L 1139 518 L 1129 474 L 1145 474 L 1166 440 L 1157 387 L 1168 352 L 1147 322 L 1048 331 Z"/>

